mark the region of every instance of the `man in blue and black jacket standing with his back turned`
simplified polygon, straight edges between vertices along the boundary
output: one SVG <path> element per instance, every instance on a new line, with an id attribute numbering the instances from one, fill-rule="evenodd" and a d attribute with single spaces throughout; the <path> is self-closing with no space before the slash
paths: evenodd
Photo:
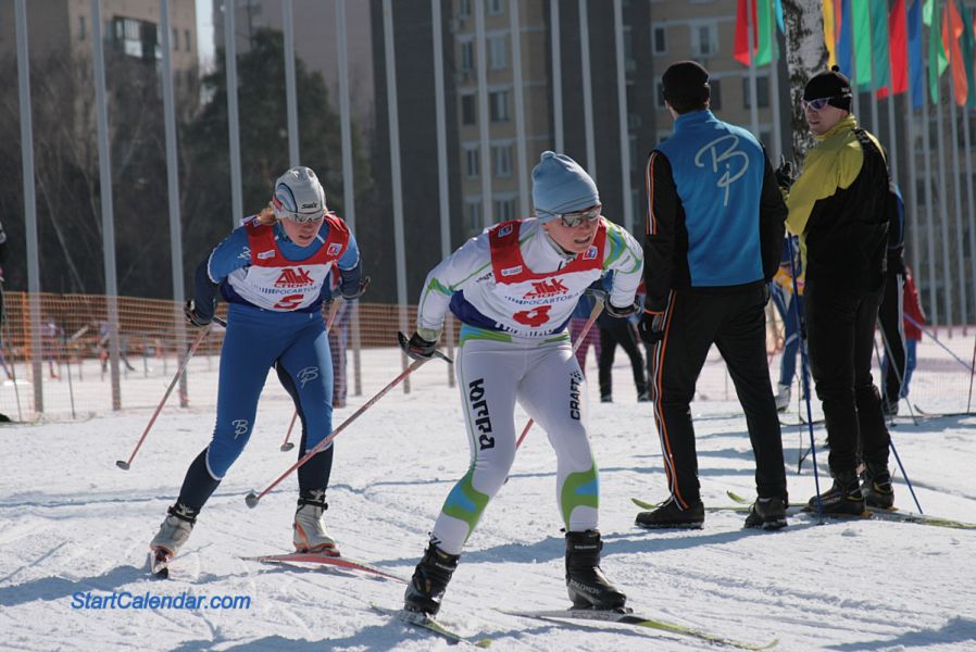
<path id="1" fill-rule="evenodd" d="M 709 110 L 709 73 L 693 61 L 662 77 L 674 136 L 650 154 L 645 240 L 653 344 L 654 418 L 671 496 L 641 512 L 647 528 L 704 522 L 689 403 L 714 343 L 728 365 L 755 454 L 758 499 L 747 527 L 786 525 L 786 472 L 765 347 L 768 281 L 779 264 L 787 210 L 763 147 Z"/>

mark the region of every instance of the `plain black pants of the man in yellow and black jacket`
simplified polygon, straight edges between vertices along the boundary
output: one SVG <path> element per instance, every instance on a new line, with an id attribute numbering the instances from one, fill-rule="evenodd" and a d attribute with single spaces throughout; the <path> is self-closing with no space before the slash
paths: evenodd
<path id="1" fill-rule="evenodd" d="M 859 460 L 888 464 L 891 441 L 871 376 L 874 329 L 885 288 L 856 291 L 806 279 L 803 310 L 810 371 L 824 405 L 830 473 L 852 473 Z"/>

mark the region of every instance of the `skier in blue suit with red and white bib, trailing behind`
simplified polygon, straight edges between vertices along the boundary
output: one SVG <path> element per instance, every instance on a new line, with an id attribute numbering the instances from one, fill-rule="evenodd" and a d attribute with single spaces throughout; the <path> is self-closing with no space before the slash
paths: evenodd
<path id="1" fill-rule="evenodd" d="M 271 206 L 245 220 L 197 268 L 187 321 L 196 327 L 210 324 L 218 290 L 229 303 L 217 417 L 210 444 L 190 464 L 179 498 L 150 543 L 157 565 L 179 552 L 203 504 L 243 450 L 272 366 L 301 417 L 299 456 L 331 432 L 333 371 L 322 302 L 329 297 L 333 266 L 343 298 L 362 296 L 368 278 L 362 279 L 355 239 L 326 209 L 315 173 L 292 167 L 275 184 Z M 323 519 L 331 464 L 329 446 L 299 468 L 297 550 L 338 554 Z"/>

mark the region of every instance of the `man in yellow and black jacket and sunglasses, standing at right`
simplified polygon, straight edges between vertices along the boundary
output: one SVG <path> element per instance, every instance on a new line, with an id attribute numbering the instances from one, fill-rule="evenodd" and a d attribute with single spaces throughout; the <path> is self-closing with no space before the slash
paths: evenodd
<path id="1" fill-rule="evenodd" d="M 819 499 L 824 512 L 835 514 L 860 514 L 865 501 L 893 502 L 890 437 L 871 376 L 885 289 L 888 164 L 877 139 L 858 126 L 851 97 L 837 66 L 806 84 L 803 111 L 818 142 L 789 190 L 786 222 L 800 236 L 810 366 L 830 447 L 834 486 Z M 863 487 L 856 472 L 862 461 Z"/>

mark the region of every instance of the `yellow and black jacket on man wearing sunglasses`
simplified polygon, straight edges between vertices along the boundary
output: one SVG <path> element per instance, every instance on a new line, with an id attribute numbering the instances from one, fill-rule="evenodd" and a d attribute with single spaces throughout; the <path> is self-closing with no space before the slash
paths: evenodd
<path id="1" fill-rule="evenodd" d="M 891 198 L 877 139 L 849 115 L 818 137 L 787 197 L 806 281 L 875 290 L 885 277 Z"/>

